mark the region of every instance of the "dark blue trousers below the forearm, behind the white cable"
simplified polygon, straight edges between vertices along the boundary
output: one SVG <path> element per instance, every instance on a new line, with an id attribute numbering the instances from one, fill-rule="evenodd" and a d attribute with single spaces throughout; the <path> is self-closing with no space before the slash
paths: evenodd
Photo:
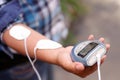
<path id="1" fill-rule="evenodd" d="M 42 80 L 51 80 L 49 78 L 49 76 L 51 77 L 52 74 L 50 65 L 37 61 L 35 63 L 35 67 L 39 71 Z M 1 71 L 0 80 L 38 80 L 38 78 L 31 67 L 31 64 L 28 62 L 8 70 Z"/>

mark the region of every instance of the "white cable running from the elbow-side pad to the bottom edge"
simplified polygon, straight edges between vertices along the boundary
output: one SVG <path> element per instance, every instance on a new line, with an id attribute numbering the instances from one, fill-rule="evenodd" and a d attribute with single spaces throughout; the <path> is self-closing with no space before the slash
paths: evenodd
<path id="1" fill-rule="evenodd" d="M 34 63 L 32 62 L 32 60 L 31 60 L 31 58 L 30 58 L 30 56 L 29 56 L 29 53 L 28 53 L 28 50 L 27 50 L 27 41 L 26 41 L 26 38 L 24 39 L 24 46 L 25 46 L 26 55 L 27 55 L 27 57 L 28 57 L 31 65 L 32 65 L 32 67 L 33 67 L 33 70 L 35 71 L 35 73 L 36 73 L 36 75 L 37 75 L 37 77 L 38 77 L 38 80 L 41 80 L 41 77 L 40 77 L 37 69 L 35 68 Z"/>

